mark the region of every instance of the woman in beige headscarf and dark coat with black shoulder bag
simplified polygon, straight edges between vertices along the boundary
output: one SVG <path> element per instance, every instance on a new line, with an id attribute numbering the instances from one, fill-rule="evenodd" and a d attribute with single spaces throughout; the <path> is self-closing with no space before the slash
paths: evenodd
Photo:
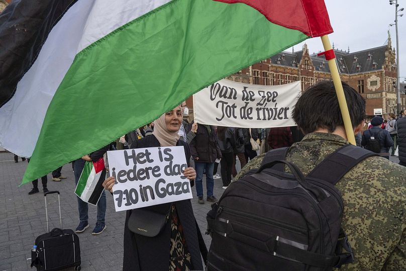
<path id="1" fill-rule="evenodd" d="M 178 135 L 181 123 L 182 111 L 176 107 L 155 121 L 151 136 L 135 141 L 131 148 L 183 146 L 189 166 L 189 147 L 179 140 Z M 183 174 L 190 181 L 196 177 L 192 167 L 187 167 Z M 112 192 L 114 183 L 114 177 L 109 177 L 103 186 Z M 140 220 L 148 224 L 145 234 L 134 229 Z M 154 230 L 156 234 L 148 236 L 148 232 Z M 124 228 L 123 270 L 202 270 L 199 239 L 200 245 L 204 246 L 190 200 L 128 210 Z M 206 250 L 202 246 L 202 251 Z"/>

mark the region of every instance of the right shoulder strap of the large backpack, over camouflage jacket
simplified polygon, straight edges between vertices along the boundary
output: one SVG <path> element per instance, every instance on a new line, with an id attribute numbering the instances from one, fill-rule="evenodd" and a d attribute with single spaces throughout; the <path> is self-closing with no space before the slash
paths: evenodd
<path id="1" fill-rule="evenodd" d="M 324 179 L 335 185 L 351 168 L 371 156 L 379 156 L 379 154 L 347 144 L 327 156 L 307 177 Z"/>

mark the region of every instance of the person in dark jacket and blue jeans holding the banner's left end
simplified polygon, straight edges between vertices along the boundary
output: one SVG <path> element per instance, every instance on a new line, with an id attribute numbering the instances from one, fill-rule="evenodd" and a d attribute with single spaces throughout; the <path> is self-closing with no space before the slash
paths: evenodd
<path id="1" fill-rule="evenodd" d="M 189 131 L 192 130 L 194 121 L 189 124 Z M 205 204 L 203 199 L 203 172 L 206 170 L 207 201 L 217 202 L 213 195 L 214 179 L 213 170 L 216 159 L 220 159 L 221 150 L 217 143 L 216 133 L 212 126 L 198 124 L 195 137 L 190 141 L 190 153 L 194 159 L 196 169 L 196 192 L 197 202 Z"/>

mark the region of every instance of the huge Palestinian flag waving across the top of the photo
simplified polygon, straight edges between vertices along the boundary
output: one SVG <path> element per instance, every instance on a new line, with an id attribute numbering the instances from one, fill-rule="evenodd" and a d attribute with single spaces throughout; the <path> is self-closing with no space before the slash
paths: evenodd
<path id="1" fill-rule="evenodd" d="M 323 0 L 30 0 L 0 14 L 0 145 L 23 183 L 333 32 Z"/>

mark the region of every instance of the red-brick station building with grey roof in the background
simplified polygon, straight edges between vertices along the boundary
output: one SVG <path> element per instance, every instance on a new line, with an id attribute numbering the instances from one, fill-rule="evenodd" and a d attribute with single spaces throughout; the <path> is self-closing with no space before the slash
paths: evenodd
<path id="1" fill-rule="evenodd" d="M 366 100 L 366 113 L 374 109 L 396 113 L 396 58 L 388 36 L 384 46 L 350 53 L 334 49 L 341 80 L 354 87 Z M 298 52 L 281 52 L 226 79 L 261 85 L 279 85 L 301 81 L 304 91 L 319 80 L 331 80 L 329 65 L 324 56 L 309 54 L 305 44 Z M 402 89 L 403 90 L 403 89 Z M 404 91 L 401 107 L 405 105 Z"/>

